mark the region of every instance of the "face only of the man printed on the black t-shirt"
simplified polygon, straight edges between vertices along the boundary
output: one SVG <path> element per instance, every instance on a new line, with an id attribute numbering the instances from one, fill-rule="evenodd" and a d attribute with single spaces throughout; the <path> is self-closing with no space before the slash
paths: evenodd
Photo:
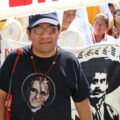
<path id="1" fill-rule="evenodd" d="M 29 103 L 32 108 L 38 108 L 44 105 L 44 102 L 48 99 L 48 86 L 39 81 L 34 81 L 29 95 Z"/>

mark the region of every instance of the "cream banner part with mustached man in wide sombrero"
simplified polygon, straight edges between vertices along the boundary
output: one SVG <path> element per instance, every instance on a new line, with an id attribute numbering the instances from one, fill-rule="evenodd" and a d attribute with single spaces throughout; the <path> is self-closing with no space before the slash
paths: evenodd
<path id="1" fill-rule="evenodd" d="M 96 44 L 81 49 L 77 57 L 92 90 L 93 120 L 120 120 L 120 46 Z M 79 120 L 75 109 L 72 115 Z"/>

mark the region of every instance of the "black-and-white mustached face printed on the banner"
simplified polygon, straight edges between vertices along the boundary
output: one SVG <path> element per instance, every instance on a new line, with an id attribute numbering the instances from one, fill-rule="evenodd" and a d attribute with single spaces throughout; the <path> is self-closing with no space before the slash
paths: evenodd
<path id="1" fill-rule="evenodd" d="M 90 85 L 93 91 L 92 95 L 90 95 L 91 98 L 100 98 L 106 93 L 108 88 L 106 77 L 106 73 L 95 73 Z"/>

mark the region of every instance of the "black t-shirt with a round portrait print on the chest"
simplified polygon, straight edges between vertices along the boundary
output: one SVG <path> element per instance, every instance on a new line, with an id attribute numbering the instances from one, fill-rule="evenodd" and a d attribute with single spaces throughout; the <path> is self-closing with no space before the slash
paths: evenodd
<path id="1" fill-rule="evenodd" d="M 71 120 L 70 96 L 80 102 L 90 94 L 78 59 L 59 48 L 56 64 L 44 76 L 54 56 L 47 59 L 34 56 L 38 73 L 30 48 L 23 48 L 12 76 L 12 116 L 15 120 Z M 0 69 L 0 89 L 6 92 L 16 56 L 16 51 L 10 53 Z"/>

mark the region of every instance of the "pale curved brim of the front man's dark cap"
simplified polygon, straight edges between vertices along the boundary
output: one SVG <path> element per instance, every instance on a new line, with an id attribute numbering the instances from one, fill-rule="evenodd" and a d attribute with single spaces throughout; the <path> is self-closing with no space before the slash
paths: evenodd
<path id="1" fill-rule="evenodd" d="M 57 20 L 50 19 L 50 18 L 42 18 L 42 19 L 37 20 L 31 27 L 34 27 L 41 23 L 49 23 L 49 24 L 52 24 L 55 26 L 57 26 L 59 24 Z"/>

